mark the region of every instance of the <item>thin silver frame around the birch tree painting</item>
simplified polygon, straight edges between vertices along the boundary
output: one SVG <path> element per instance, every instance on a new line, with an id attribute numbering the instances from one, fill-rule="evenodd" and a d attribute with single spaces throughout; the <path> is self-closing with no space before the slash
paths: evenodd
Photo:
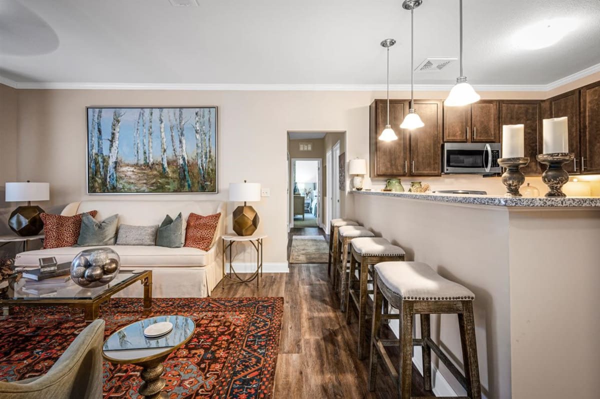
<path id="1" fill-rule="evenodd" d="M 164 195 L 164 194 L 218 194 L 219 193 L 219 146 L 218 146 L 218 142 L 219 142 L 219 119 L 218 119 L 218 106 L 86 106 L 86 131 L 87 131 L 87 136 L 86 136 L 86 167 L 85 167 L 85 173 L 86 173 L 86 194 L 88 195 L 138 195 L 138 194 L 144 194 L 144 195 L 149 195 L 149 194 L 158 194 L 158 195 Z M 107 190 L 107 191 L 98 191 L 95 190 L 94 188 L 92 188 L 92 184 L 91 184 L 91 133 L 93 128 L 91 128 L 91 124 L 90 124 L 90 118 L 92 115 L 92 112 L 98 111 L 98 110 L 135 110 L 134 112 L 140 112 L 141 110 L 143 110 L 144 115 L 145 112 L 148 110 L 154 110 L 157 111 L 158 110 L 163 109 L 167 112 L 167 115 L 169 112 L 173 111 L 175 112 L 176 110 L 185 110 L 187 112 L 190 112 L 190 110 L 193 110 L 192 112 L 194 112 L 195 110 L 209 110 L 209 115 L 212 115 L 212 128 L 209 129 L 208 134 L 211 138 L 211 140 L 214 140 L 214 145 L 209 145 L 208 146 L 208 151 L 209 154 L 211 154 L 211 166 L 212 166 L 212 175 L 214 175 L 211 179 L 211 185 L 212 185 L 212 189 L 211 190 L 198 190 L 198 185 L 200 185 L 200 182 L 197 182 L 197 186 L 195 190 L 192 190 L 190 187 L 190 190 L 165 190 L 165 191 L 157 191 L 157 190 Z M 92 112 L 91 112 L 92 110 Z M 211 113 L 212 112 L 212 113 Z M 175 117 L 175 114 L 173 114 L 173 116 Z M 209 116 L 209 120 L 210 120 L 210 116 Z M 154 119 L 152 119 L 152 121 L 154 121 Z M 139 122 L 139 119 L 138 121 Z M 188 124 L 189 119 L 187 121 L 184 122 L 184 136 L 185 135 L 189 135 L 189 132 L 185 131 L 185 126 Z M 165 124 L 166 125 L 166 124 Z M 170 130 L 170 125 L 169 127 L 165 128 L 165 133 L 166 131 Z M 158 127 L 154 132 L 158 131 Z M 158 131 L 158 133 L 160 133 L 160 131 Z M 109 136 L 110 136 L 111 132 L 109 131 Z M 102 140 L 106 140 L 107 142 L 110 142 L 109 139 L 106 139 L 106 136 L 104 134 L 104 132 L 102 132 L 101 135 L 101 139 Z M 152 134 L 152 136 L 154 136 L 154 133 Z M 158 136 L 158 134 L 157 134 Z M 139 140 L 139 138 L 138 138 Z M 161 139 L 157 137 L 157 142 L 161 142 Z M 189 142 L 187 142 L 188 144 Z M 145 143 L 146 144 L 146 143 Z M 175 141 L 173 142 L 173 144 L 175 144 Z M 181 144 L 181 143 L 180 143 Z M 119 142 L 120 145 L 120 142 Z M 118 145 L 118 147 L 119 147 Z M 170 143 L 169 143 L 170 145 Z M 187 146 L 186 146 L 187 147 Z M 154 146 L 152 146 L 152 148 L 154 148 Z M 166 146 L 167 148 L 167 146 Z M 178 157 L 178 155 L 175 154 L 176 149 L 173 148 L 173 146 L 171 145 L 170 148 L 172 149 L 172 155 L 173 157 Z M 181 148 L 179 148 L 179 154 L 181 154 Z M 139 154 L 139 156 L 141 157 L 142 155 Z M 187 158 L 187 154 L 186 154 L 186 158 Z M 168 161 L 167 161 L 168 162 Z M 188 169 L 190 169 L 190 159 L 187 159 L 187 166 Z M 197 160 L 197 154 L 196 154 L 196 165 L 198 165 L 198 160 Z M 167 166 L 168 167 L 168 166 Z M 178 167 L 178 163 L 176 162 L 175 167 Z M 164 169 L 163 169 L 164 170 Z M 186 175 L 188 176 L 188 175 Z M 190 169 L 190 176 L 191 178 L 191 169 Z M 173 177 L 174 178 L 174 177 Z M 188 187 L 189 187 L 190 181 L 188 179 Z M 206 187 L 206 186 L 205 186 Z"/>

